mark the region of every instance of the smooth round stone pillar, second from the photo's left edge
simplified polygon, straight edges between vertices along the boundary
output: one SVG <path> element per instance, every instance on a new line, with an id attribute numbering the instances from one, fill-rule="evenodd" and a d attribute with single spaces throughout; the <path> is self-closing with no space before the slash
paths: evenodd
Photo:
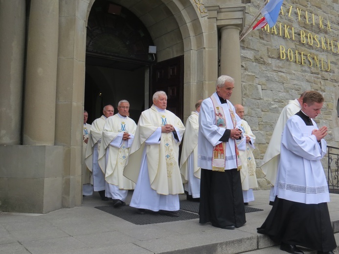
<path id="1" fill-rule="evenodd" d="M 23 118 L 24 145 L 54 145 L 59 0 L 31 0 Z"/>

